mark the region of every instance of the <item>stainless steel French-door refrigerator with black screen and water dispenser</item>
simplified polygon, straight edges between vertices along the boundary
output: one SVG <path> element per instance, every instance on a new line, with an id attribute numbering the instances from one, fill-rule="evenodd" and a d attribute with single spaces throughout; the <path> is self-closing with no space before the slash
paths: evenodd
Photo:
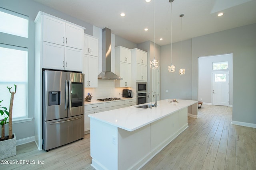
<path id="1" fill-rule="evenodd" d="M 84 137 L 84 74 L 43 71 L 42 147 L 50 150 Z"/>

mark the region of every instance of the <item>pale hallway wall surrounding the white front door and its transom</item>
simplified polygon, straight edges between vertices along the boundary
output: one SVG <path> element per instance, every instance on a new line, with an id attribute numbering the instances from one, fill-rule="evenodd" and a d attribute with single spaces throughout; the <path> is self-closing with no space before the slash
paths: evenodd
<path id="1" fill-rule="evenodd" d="M 212 70 L 212 63 L 228 61 L 228 69 Z M 233 104 L 233 55 L 199 57 L 198 59 L 198 100 L 212 104 L 212 72 L 229 71 L 229 105 Z"/>

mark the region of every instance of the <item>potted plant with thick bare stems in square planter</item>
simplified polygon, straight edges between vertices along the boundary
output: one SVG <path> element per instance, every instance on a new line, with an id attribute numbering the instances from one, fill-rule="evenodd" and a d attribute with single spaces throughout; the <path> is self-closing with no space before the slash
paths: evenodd
<path id="1" fill-rule="evenodd" d="M 11 87 L 10 88 L 7 87 L 9 89 L 9 92 L 11 93 L 9 112 L 7 111 L 6 107 L 0 107 L 0 113 L 1 115 L 4 115 L 4 119 L 2 119 L 0 122 L 0 125 L 2 125 L 2 137 L 0 139 L 0 160 L 16 155 L 16 136 L 15 136 L 15 133 L 12 134 L 12 106 L 13 106 L 14 94 L 16 93 L 16 89 L 17 89 L 17 86 L 15 84 L 14 86 L 15 86 L 14 92 L 11 92 Z M 1 100 L 0 103 L 2 101 L 3 100 Z M 9 124 L 9 135 L 4 136 L 4 125 L 6 123 Z"/>

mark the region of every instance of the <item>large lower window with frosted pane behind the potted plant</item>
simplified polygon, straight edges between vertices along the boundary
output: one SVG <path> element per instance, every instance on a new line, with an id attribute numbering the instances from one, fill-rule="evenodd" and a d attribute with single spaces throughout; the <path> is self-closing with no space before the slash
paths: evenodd
<path id="1" fill-rule="evenodd" d="M 9 111 L 11 94 L 7 88 L 17 85 L 12 109 L 13 120 L 27 117 L 28 96 L 28 49 L 12 45 L 0 44 L 0 100 L 1 106 Z M 2 119 L 0 115 L 0 119 Z"/>

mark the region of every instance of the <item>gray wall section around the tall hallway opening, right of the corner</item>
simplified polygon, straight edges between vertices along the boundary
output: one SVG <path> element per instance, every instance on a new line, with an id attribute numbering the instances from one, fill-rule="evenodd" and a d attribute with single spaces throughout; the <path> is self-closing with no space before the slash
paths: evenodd
<path id="1" fill-rule="evenodd" d="M 256 124 L 256 23 L 192 39 L 193 97 L 198 99 L 198 57 L 233 53 L 233 121 Z M 241 102 L 246 101 L 246 102 Z"/>

